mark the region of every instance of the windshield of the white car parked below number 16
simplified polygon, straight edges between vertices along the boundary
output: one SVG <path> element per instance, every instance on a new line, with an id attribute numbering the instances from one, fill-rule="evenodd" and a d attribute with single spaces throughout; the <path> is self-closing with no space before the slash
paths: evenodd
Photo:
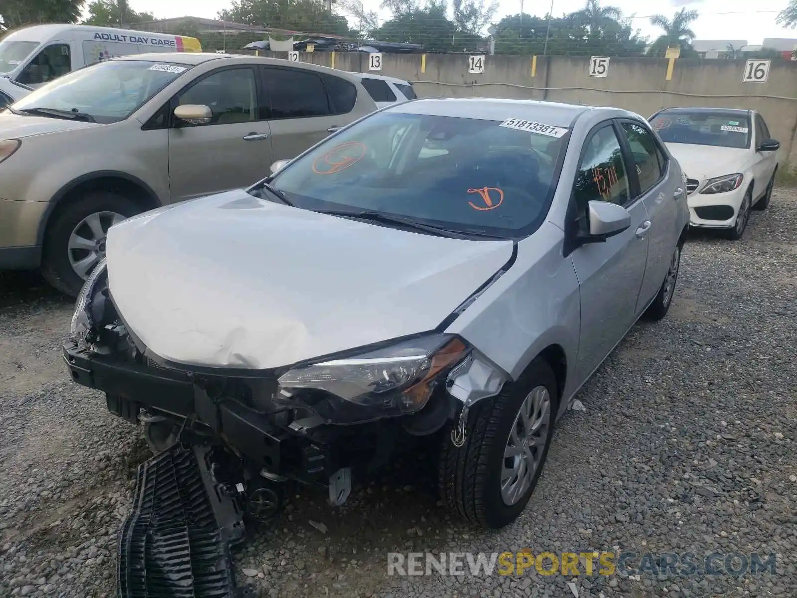
<path id="1" fill-rule="evenodd" d="M 668 144 L 714 145 L 748 148 L 750 121 L 747 115 L 722 112 L 660 112 L 650 124 Z"/>

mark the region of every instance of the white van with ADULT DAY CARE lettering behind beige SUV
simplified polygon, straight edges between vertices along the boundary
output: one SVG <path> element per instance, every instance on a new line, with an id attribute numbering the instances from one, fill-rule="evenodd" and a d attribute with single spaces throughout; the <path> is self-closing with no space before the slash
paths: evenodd
<path id="1" fill-rule="evenodd" d="M 37 25 L 0 41 L 0 77 L 37 88 L 95 62 L 147 52 L 202 52 L 195 37 L 94 27 Z"/>

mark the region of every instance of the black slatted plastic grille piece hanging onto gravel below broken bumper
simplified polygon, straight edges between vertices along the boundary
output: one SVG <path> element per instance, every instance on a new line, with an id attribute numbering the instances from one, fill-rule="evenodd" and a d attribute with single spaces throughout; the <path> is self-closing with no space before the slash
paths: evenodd
<path id="1" fill-rule="evenodd" d="M 230 546 L 242 513 L 210 474 L 211 450 L 175 445 L 139 466 L 133 510 L 119 537 L 119 598 L 242 598 Z"/>

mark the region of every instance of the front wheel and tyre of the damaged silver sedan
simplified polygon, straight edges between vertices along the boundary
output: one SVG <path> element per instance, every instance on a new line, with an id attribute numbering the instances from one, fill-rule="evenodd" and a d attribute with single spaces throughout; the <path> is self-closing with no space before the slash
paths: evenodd
<path id="1" fill-rule="evenodd" d="M 493 529 L 515 521 L 548 456 L 557 397 L 556 376 L 538 357 L 501 394 L 471 408 L 462 447 L 444 435 L 438 484 L 450 511 Z"/>

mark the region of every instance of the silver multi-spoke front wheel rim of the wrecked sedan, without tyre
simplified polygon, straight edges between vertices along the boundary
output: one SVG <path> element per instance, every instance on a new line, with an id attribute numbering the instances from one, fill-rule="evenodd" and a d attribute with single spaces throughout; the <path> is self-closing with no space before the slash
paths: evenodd
<path id="1" fill-rule="evenodd" d="M 537 386 L 526 395 L 515 416 L 501 466 L 501 498 L 512 506 L 531 486 L 551 430 L 551 393 Z"/>

